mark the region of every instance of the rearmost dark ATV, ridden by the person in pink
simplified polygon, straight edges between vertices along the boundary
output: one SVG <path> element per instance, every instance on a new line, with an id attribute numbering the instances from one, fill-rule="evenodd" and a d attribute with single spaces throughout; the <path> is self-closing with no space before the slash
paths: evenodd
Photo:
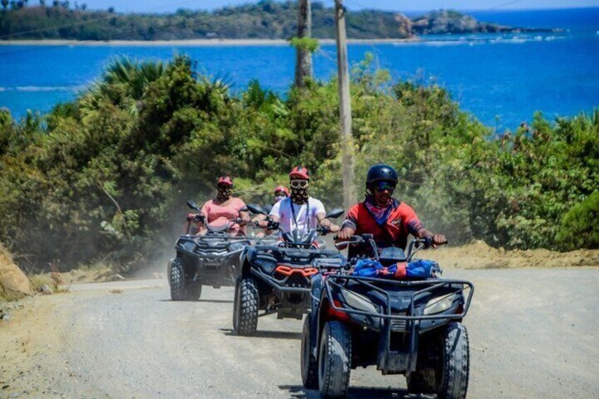
<path id="1" fill-rule="evenodd" d="M 187 205 L 199 212 L 194 201 L 187 201 Z M 204 222 L 201 215 L 196 215 L 194 220 Z M 230 227 L 228 223 L 220 227 L 204 223 L 206 234 L 189 234 L 192 221 L 188 218 L 186 234 L 180 236 L 175 244 L 177 256 L 167 266 L 173 301 L 197 301 L 202 285 L 215 288 L 235 286 L 239 274 L 239 256 L 244 246 L 249 244 L 247 237 L 232 236 L 227 232 Z"/>

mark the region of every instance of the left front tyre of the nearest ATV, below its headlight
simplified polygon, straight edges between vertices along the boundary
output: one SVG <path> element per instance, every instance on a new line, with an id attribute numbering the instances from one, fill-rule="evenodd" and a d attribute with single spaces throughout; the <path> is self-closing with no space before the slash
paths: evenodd
<path id="1" fill-rule="evenodd" d="M 326 398 L 348 393 L 352 366 L 352 334 L 340 321 L 328 321 L 319 347 L 319 391 Z"/>

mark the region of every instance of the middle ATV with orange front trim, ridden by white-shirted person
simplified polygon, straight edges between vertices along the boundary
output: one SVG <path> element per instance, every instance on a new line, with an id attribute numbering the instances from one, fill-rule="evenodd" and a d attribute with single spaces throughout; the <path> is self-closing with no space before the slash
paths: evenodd
<path id="1" fill-rule="evenodd" d="M 266 213 L 248 205 L 252 213 Z M 333 210 L 326 217 L 338 218 L 343 210 Z M 268 216 L 268 215 L 267 215 Z M 277 222 L 268 220 L 269 230 L 279 230 Z M 246 246 L 242 252 L 242 272 L 235 287 L 233 328 L 239 335 L 254 335 L 258 318 L 277 314 L 277 318 L 302 318 L 309 309 L 310 278 L 323 265 L 342 265 L 339 251 L 317 249 L 319 234 L 326 227 L 305 234 L 280 232 L 276 244 Z"/>

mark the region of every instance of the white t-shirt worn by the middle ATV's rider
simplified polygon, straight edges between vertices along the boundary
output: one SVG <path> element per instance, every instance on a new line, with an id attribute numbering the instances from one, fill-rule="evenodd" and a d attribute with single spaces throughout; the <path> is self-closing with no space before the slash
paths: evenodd
<path id="1" fill-rule="evenodd" d="M 295 218 L 293 217 L 294 212 Z M 283 232 L 292 232 L 297 229 L 303 234 L 318 226 L 316 215 L 319 213 L 325 213 L 324 205 L 316 198 L 308 197 L 307 204 L 297 205 L 292 203 L 291 197 L 287 197 L 275 203 L 270 215 L 279 218 Z"/>

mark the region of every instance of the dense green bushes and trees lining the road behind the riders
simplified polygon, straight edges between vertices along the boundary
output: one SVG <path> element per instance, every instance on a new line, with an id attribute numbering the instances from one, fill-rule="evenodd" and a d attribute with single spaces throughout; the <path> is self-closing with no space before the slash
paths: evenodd
<path id="1" fill-rule="evenodd" d="M 503 135 L 461 112 L 446 90 L 353 67 L 352 114 L 362 198 L 375 162 L 400 174 L 396 196 L 451 244 L 599 248 L 599 110 Z M 266 203 L 293 165 L 312 195 L 341 198 L 336 81 L 284 96 L 166 63 L 115 60 L 97 83 L 49 114 L 0 111 L 0 242 L 30 271 L 91 263 L 138 268 L 172 246 L 184 200 L 235 177 L 237 195 Z"/>

